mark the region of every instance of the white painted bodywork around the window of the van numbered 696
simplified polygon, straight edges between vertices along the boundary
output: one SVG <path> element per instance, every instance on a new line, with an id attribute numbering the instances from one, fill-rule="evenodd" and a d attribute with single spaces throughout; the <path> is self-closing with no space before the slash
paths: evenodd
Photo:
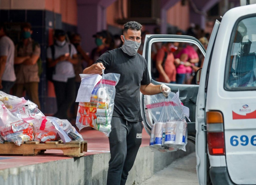
<path id="1" fill-rule="evenodd" d="M 224 89 L 225 65 L 231 33 L 237 19 L 249 14 L 256 16 L 256 5 L 233 8 L 223 16 L 213 50 L 206 100 L 206 111 L 218 110 L 223 113 L 226 166 L 235 184 L 256 184 L 256 146 L 240 143 L 241 136 L 245 135 L 242 140 L 245 140 L 246 136 L 250 140 L 256 135 L 256 119 L 233 119 L 233 111 L 239 109 L 239 106 L 256 107 L 256 91 Z M 239 144 L 232 146 L 231 142 L 236 141 Z M 209 159 L 211 166 L 219 166 L 216 163 L 216 156 L 209 155 Z"/>

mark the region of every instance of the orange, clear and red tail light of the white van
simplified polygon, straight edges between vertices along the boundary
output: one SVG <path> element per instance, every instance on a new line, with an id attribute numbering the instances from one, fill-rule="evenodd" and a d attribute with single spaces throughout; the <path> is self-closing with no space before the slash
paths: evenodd
<path id="1" fill-rule="evenodd" d="M 225 155 L 224 121 L 219 111 L 206 112 L 207 142 L 210 155 Z"/>

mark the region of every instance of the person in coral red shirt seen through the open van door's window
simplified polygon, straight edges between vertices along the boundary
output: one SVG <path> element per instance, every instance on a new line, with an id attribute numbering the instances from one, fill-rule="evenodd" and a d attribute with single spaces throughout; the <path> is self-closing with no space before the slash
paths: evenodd
<path id="1" fill-rule="evenodd" d="M 159 82 L 176 83 L 176 67 L 174 55 L 171 52 L 171 42 L 163 42 L 162 48 L 157 52 L 156 64 L 159 72 Z"/>

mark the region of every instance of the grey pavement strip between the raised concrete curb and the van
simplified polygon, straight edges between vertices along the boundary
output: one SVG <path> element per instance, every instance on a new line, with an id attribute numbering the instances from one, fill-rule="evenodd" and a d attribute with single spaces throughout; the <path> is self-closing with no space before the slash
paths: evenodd
<path id="1" fill-rule="evenodd" d="M 171 163 L 140 185 L 198 185 L 195 152 Z"/>

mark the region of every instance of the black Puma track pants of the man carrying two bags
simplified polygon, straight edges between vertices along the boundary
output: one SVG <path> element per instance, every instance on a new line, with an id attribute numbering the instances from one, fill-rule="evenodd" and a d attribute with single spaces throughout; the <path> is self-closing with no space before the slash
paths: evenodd
<path id="1" fill-rule="evenodd" d="M 142 141 L 142 123 L 112 117 L 107 185 L 125 185 Z"/>

